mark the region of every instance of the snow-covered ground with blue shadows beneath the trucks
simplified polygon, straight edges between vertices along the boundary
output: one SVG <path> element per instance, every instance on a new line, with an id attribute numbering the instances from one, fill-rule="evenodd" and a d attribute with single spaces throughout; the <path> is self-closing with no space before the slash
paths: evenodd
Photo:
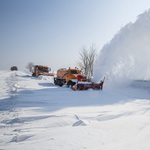
<path id="1" fill-rule="evenodd" d="M 149 82 L 73 91 L 0 71 L 1 150 L 149 150 Z"/>

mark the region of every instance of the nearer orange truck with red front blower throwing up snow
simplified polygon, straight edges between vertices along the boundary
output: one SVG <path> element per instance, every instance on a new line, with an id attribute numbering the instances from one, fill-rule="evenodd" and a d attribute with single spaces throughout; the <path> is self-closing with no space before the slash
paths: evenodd
<path id="1" fill-rule="evenodd" d="M 104 77 L 105 79 L 105 77 Z M 100 83 L 94 83 L 91 82 L 91 78 L 88 78 L 82 70 L 75 68 L 75 69 L 66 69 L 62 68 L 57 70 L 57 77 L 54 77 L 54 84 L 63 86 L 64 84 L 67 84 L 68 87 L 71 86 L 71 88 L 76 90 L 87 90 L 89 88 L 91 89 L 103 89 L 103 81 Z"/>

